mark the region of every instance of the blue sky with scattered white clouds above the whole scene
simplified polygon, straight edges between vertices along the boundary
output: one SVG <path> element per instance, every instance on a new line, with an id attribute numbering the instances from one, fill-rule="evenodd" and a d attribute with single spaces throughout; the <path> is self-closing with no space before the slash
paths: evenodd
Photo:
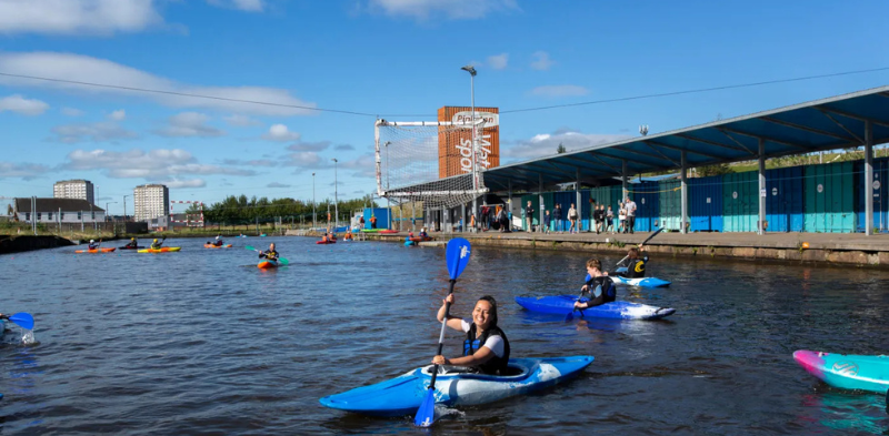
<path id="1" fill-rule="evenodd" d="M 889 70 L 600 102 L 886 69 L 887 13 L 882 0 L 0 0 L 0 197 L 68 179 L 114 214 L 144 183 L 204 203 L 360 197 L 376 192 L 377 116 L 468 107 L 463 65 L 476 105 L 501 111 L 510 163 L 885 85 Z"/>

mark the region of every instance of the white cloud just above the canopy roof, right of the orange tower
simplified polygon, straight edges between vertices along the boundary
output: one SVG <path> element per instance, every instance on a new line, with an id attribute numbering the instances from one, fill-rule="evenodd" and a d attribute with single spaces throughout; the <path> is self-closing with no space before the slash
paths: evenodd
<path id="1" fill-rule="evenodd" d="M 556 154 L 559 144 L 568 151 L 580 150 L 593 145 L 607 144 L 631 138 L 623 134 L 580 133 L 570 130 L 560 130 L 553 133 L 540 133 L 529 140 L 515 141 L 502 144 L 500 154 L 505 162 L 515 162 L 525 159 L 537 159 Z"/>

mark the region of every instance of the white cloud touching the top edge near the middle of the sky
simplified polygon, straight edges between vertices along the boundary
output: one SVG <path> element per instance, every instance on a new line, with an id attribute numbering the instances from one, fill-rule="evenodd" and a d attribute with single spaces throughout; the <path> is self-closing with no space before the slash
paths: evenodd
<path id="1" fill-rule="evenodd" d="M 428 20 L 433 13 L 452 20 L 475 20 L 490 12 L 518 9 L 516 0 L 370 0 L 368 4 L 371 11 L 417 20 Z"/>

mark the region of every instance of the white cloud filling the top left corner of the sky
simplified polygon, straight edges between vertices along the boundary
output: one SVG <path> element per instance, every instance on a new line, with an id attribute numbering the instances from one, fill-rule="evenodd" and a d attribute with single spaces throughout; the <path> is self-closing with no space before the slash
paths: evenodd
<path id="1" fill-rule="evenodd" d="M 163 23 L 152 0 L 0 0 L 0 33 L 104 34 Z"/>

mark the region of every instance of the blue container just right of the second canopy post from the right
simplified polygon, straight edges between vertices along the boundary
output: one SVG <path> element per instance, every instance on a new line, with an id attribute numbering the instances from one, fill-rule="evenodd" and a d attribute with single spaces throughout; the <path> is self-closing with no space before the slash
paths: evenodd
<path id="1" fill-rule="evenodd" d="M 767 232 L 802 232 L 806 196 L 802 174 L 802 166 L 766 170 Z"/>

